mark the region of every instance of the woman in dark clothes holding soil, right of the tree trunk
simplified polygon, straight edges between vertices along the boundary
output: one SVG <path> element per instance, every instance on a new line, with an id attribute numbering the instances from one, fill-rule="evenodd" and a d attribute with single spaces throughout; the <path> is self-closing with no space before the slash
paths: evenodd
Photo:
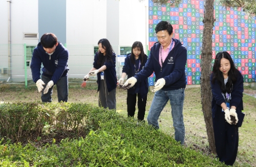
<path id="1" fill-rule="evenodd" d="M 216 55 L 210 76 L 212 122 L 217 156 L 232 165 L 238 152 L 238 128 L 242 125 L 243 76 L 226 51 Z"/>

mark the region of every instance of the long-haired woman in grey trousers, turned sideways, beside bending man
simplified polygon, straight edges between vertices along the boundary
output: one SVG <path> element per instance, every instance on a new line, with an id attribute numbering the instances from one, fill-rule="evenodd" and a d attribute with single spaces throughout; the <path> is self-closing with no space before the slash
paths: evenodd
<path id="1" fill-rule="evenodd" d="M 93 68 L 84 76 L 84 80 L 97 74 L 99 106 L 116 109 L 116 54 L 108 39 L 100 39 L 98 46 L 99 51 L 94 55 Z"/>

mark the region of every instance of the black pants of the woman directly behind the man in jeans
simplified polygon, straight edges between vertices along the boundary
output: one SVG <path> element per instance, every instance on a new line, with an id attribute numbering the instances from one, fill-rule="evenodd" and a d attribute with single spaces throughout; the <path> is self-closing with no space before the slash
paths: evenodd
<path id="1" fill-rule="evenodd" d="M 140 96 L 140 93 L 133 95 L 127 92 L 127 112 L 128 112 L 128 117 L 134 117 L 137 95 L 138 95 L 138 109 L 139 109 L 138 120 L 142 121 L 144 120 L 144 116 L 145 116 L 147 96 L 142 99 Z"/>

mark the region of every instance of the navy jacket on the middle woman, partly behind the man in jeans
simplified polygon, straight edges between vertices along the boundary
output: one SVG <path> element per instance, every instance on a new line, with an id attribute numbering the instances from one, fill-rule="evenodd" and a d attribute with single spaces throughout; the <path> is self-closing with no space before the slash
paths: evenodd
<path id="1" fill-rule="evenodd" d="M 146 59 L 143 61 L 143 63 L 140 65 L 139 71 L 141 71 L 144 68 L 146 61 L 147 61 L 147 56 L 146 56 Z M 138 68 L 138 65 L 137 65 L 137 68 Z M 127 54 L 124 60 L 124 66 L 123 66 L 122 72 L 125 72 L 128 75 L 127 78 L 130 78 L 135 75 L 135 68 L 131 60 L 131 53 Z M 140 93 L 141 97 L 144 98 L 148 93 L 147 78 L 141 82 L 137 82 L 132 88 L 128 89 L 127 91 L 130 94 Z"/>

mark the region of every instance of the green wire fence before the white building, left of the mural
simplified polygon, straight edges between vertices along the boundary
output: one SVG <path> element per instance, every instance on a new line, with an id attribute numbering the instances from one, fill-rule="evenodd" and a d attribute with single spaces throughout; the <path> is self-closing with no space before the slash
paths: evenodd
<path id="1" fill-rule="evenodd" d="M 93 67 L 94 53 L 98 46 L 85 44 L 65 44 L 69 50 L 68 76 L 69 82 L 82 82 Z M 10 48 L 9 48 L 10 47 Z M 28 84 L 34 83 L 30 69 L 33 49 L 36 45 L 27 44 L 0 44 L 0 83 L 6 84 Z M 118 61 L 118 55 L 124 55 L 131 51 L 131 46 L 112 46 L 115 50 L 117 77 L 121 76 L 122 64 Z M 146 47 L 144 47 L 146 48 Z M 92 76 L 93 77 L 96 76 Z"/>

